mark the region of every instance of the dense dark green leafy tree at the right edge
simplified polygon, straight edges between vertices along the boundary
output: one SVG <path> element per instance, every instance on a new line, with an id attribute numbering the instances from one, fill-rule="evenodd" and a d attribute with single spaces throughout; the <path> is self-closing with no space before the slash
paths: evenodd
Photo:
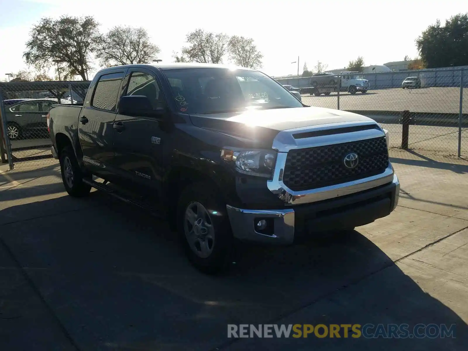
<path id="1" fill-rule="evenodd" d="M 468 13 L 437 20 L 416 39 L 416 47 L 427 68 L 468 65 Z"/>

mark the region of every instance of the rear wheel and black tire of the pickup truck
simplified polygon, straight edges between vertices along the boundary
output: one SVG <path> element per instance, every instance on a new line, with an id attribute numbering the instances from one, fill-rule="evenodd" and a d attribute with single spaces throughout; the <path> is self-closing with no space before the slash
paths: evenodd
<path id="1" fill-rule="evenodd" d="M 85 177 L 91 177 L 84 175 L 81 171 L 81 168 L 78 165 L 78 162 L 76 161 L 76 156 L 73 152 L 73 148 L 71 146 L 64 147 L 60 152 L 59 160 L 63 185 L 65 186 L 65 190 L 68 193 L 68 195 L 73 197 L 87 196 L 89 194 L 89 191 L 91 191 L 91 185 L 84 183 L 83 179 Z M 72 178 L 71 183 L 69 181 L 70 171 Z"/>

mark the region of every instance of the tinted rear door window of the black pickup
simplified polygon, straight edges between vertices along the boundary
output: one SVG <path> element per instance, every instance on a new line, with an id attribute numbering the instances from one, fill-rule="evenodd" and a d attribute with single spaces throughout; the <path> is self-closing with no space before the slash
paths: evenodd
<path id="1" fill-rule="evenodd" d="M 123 72 L 104 74 L 101 76 L 96 84 L 91 106 L 115 112 L 120 82 L 123 76 Z"/>

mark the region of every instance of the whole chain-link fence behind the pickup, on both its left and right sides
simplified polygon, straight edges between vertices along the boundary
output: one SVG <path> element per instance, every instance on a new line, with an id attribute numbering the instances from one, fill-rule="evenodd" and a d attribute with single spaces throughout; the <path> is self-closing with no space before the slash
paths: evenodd
<path id="1" fill-rule="evenodd" d="M 373 118 L 390 132 L 391 147 L 468 157 L 467 69 L 322 73 L 278 81 L 299 91 L 307 105 Z M 0 132 L 8 135 L 0 143 L 2 160 L 9 148 L 13 162 L 51 162 L 48 110 L 56 103 L 82 103 L 89 84 L 0 83 Z"/>

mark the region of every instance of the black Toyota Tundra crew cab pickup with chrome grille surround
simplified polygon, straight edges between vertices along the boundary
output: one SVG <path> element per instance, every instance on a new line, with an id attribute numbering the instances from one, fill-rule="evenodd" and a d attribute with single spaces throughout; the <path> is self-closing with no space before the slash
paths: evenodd
<path id="1" fill-rule="evenodd" d="M 47 120 L 68 194 L 94 187 L 151 208 L 206 272 L 229 265 L 235 241 L 293 244 L 398 203 L 385 130 L 306 106 L 252 69 L 106 68 L 83 106 L 56 105 Z"/>

